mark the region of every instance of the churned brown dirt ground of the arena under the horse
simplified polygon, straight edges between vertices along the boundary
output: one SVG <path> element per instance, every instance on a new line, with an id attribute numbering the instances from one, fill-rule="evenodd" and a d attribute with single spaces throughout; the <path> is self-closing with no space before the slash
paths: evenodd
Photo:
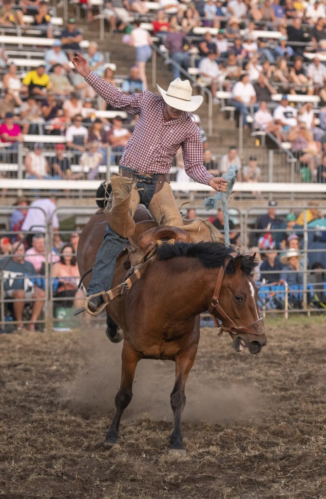
<path id="1" fill-rule="evenodd" d="M 139 363 L 119 444 L 108 450 L 121 344 L 98 323 L 1 334 L 0 497 L 326 499 L 326 318 L 266 325 L 258 355 L 202 330 L 184 458 L 167 452 L 171 362 Z"/>

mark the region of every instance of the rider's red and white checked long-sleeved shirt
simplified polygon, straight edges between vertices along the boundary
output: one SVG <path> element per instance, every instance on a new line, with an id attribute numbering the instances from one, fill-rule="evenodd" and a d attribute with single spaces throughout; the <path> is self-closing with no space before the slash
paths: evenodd
<path id="1" fill-rule="evenodd" d="M 165 102 L 161 95 L 148 91 L 125 95 L 93 72 L 85 80 L 111 106 L 139 115 L 124 148 L 121 166 L 139 173 L 165 174 L 170 171 L 173 158 L 181 146 L 189 177 L 201 184 L 209 183 L 212 175 L 203 164 L 201 133 L 190 113 L 184 112 L 180 118 L 164 122 Z"/>

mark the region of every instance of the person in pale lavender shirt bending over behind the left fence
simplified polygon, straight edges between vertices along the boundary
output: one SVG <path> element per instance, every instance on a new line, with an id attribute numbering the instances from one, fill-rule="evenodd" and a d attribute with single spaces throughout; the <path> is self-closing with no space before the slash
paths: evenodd
<path id="1" fill-rule="evenodd" d="M 27 211 L 26 218 L 21 226 L 23 232 L 32 232 L 45 234 L 49 224 L 52 225 L 52 231 L 57 233 L 59 229 L 58 217 L 55 213 L 56 210 L 56 198 L 51 196 L 45 199 L 37 199 L 33 201 Z M 57 235 L 54 236 L 56 239 Z M 31 246 L 31 236 L 27 236 L 27 242 L 29 242 L 29 247 Z"/>

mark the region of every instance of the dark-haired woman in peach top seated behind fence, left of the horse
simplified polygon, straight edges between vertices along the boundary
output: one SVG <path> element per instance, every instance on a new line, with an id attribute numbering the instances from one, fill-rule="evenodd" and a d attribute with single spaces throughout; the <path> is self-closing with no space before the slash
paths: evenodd
<path id="1" fill-rule="evenodd" d="M 75 250 L 70 244 L 64 245 L 61 249 L 60 260 L 52 267 L 51 277 L 59 281 L 54 297 L 62 298 L 62 301 L 53 301 L 54 309 L 58 307 L 70 308 L 72 306 L 80 308 L 85 300 L 82 290 L 78 289 L 80 275 L 74 253 Z M 74 299 L 69 300 L 67 298 Z"/>

